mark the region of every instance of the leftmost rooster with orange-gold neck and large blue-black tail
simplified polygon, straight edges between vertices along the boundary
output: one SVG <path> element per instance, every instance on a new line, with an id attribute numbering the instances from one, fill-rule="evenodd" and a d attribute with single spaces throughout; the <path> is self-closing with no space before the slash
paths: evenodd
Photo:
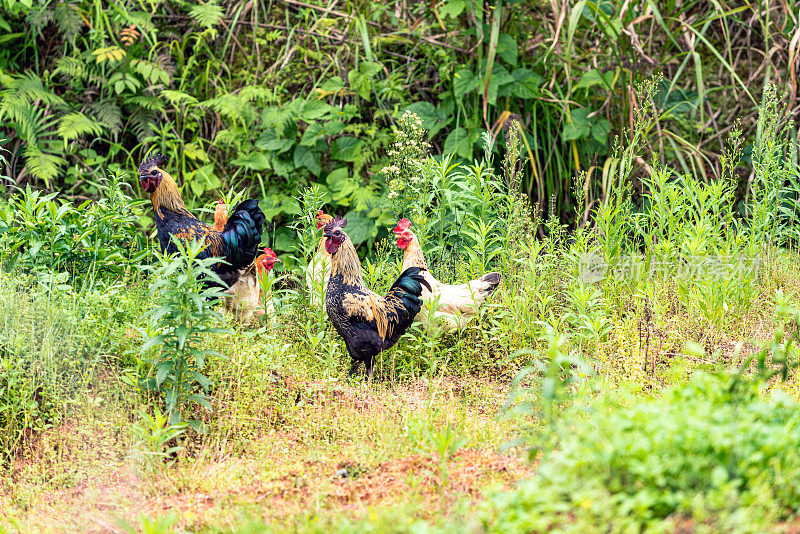
<path id="1" fill-rule="evenodd" d="M 155 154 L 139 165 L 139 181 L 153 204 L 161 250 L 177 252 L 172 236 L 184 242 L 204 240 L 206 246 L 198 258 L 224 258 L 227 263 L 217 263 L 212 269 L 225 287 L 230 287 L 239 278 L 240 269 L 253 263 L 258 253 L 264 226 L 258 201 L 250 199 L 239 204 L 223 229 L 216 230 L 186 209 L 175 180 L 161 168 L 166 164 L 166 156 Z"/>

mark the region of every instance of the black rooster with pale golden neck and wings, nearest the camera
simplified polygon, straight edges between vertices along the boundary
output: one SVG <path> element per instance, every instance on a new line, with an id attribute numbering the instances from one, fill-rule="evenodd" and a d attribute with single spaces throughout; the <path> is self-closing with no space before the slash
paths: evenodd
<path id="1" fill-rule="evenodd" d="M 344 233 L 347 219 L 333 219 L 324 227 L 325 250 L 331 255 L 331 277 L 325 292 L 325 310 L 344 339 L 353 376 L 363 362 L 371 378 L 375 357 L 400 339 L 422 307 L 424 269 L 404 270 L 382 297 L 370 291 L 361 277 L 358 254 Z M 428 287 L 430 290 L 430 287 Z"/>

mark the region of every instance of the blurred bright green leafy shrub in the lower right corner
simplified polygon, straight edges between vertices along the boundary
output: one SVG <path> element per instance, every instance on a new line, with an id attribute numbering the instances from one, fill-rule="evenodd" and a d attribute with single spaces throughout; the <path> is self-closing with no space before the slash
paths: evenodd
<path id="1" fill-rule="evenodd" d="M 483 509 L 485 530 L 752 532 L 800 513 L 796 401 L 695 374 L 630 402 L 609 398 L 564 428 L 537 475 Z"/>

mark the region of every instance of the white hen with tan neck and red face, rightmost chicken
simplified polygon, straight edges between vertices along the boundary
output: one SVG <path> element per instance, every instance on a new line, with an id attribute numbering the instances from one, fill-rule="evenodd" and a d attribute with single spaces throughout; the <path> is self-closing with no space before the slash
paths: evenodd
<path id="1" fill-rule="evenodd" d="M 438 306 L 434 311 L 434 318 L 441 319 L 444 329 L 448 332 L 463 329 L 467 323 L 478 314 L 478 307 L 486 298 L 497 289 L 503 276 L 500 273 L 486 273 L 477 280 L 472 280 L 457 286 L 439 282 L 433 277 L 422 253 L 419 239 L 410 230 L 411 221 L 401 219 L 394 229 L 397 237 L 397 246 L 403 250 L 403 269 L 421 267 L 425 269 L 422 276 L 428 282 L 431 291 L 422 291 L 425 308 L 414 319 L 428 325 L 428 310 L 433 306 L 436 297 L 439 298 Z"/>

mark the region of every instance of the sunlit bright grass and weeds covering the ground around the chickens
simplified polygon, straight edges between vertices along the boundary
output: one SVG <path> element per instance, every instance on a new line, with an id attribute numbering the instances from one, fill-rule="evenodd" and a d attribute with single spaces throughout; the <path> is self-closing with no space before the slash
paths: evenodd
<path id="1" fill-rule="evenodd" d="M 779 114 L 766 91 L 745 206 L 724 179 L 733 160 L 709 182 L 651 161 L 636 202 L 632 184 L 615 181 L 607 202 L 587 210 L 589 224 L 568 231 L 551 214 L 543 235 L 509 186 L 519 152 L 503 162 L 505 175 L 492 170 L 489 144 L 471 166 L 401 154 L 409 161 L 396 162 L 405 166 L 395 207 L 416 206 L 434 274 L 461 282 L 491 267 L 504 281 L 463 332 L 410 329 L 371 381 L 346 378 L 343 343 L 309 306 L 302 273 L 276 278 L 276 325 L 218 329 L 208 304 L 188 304 L 198 287 L 178 269 L 197 272 L 191 254 L 160 257 L 156 272 L 137 263 L 148 251 L 125 256 L 128 268 L 91 284 L 51 272 L 31 251 L 53 242 L 17 230 L 35 226 L 14 207 L 30 200 L 20 193 L 0 233 L 0 258 L 27 252 L 0 271 L 0 364 L 9 370 L 0 375 L 0 525 L 796 526 L 800 257 L 784 208 L 797 198 L 797 167 L 785 130 L 766 127 Z M 647 125 L 640 117 L 631 138 Z M 621 168 L 632 161 L 622 147 Z M 300 195 L 298 265 L 319 238 L 319 193 Z M 47 202 L 36 224 L 58 217 Z M 96 244 L 113 255 L 132 225 L 111 225 Z M 392 243 L 379 244 L 363 261 L 369 285 L 388 289 L 399 261 Z M 148 342 L 190 323 L 191 346 Z M 159 369 L 175 366 L 202 376 L 159 383 Z"/>

